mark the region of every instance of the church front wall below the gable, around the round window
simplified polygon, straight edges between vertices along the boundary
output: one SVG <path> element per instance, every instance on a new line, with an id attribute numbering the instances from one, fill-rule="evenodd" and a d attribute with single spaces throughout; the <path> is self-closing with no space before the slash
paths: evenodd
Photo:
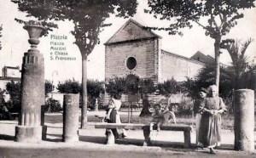
<path id="1" fill-rule="evenodd" d="M 105 77 L 126 76 L 130 73 L 158 81 L 158 39 L 149 38 L 131 42 L 119 42 L 106 46 Z M 129 57 L 137 59 L 137 66 L 130 71 L 126 67 Z"/>

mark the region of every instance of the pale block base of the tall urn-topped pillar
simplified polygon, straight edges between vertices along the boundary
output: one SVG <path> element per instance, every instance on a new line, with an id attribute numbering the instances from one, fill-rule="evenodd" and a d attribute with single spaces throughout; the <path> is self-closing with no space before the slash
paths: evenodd
<path id="1" fill-rule="evenodd" d="M 42 127 L 15 127 L 15 141 L 23 143 L 39 143 L 42 141 Z"/>

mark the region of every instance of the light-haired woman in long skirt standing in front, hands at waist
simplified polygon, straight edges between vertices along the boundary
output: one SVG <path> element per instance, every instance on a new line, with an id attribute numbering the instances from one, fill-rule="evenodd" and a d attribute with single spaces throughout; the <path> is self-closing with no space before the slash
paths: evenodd
<path id="1" fill-rule="evenodd" d="M 215 154 L 213 148 L 220 143 L 220 115 L 226 111 L 223 99 L 218 97 L 216 85 L 209 87 L 209 97 L 205 99 L 204 104 L 201 104 L 200 110 L 202 115 L 198 141 L 209 148 L 211 154 Z"/>

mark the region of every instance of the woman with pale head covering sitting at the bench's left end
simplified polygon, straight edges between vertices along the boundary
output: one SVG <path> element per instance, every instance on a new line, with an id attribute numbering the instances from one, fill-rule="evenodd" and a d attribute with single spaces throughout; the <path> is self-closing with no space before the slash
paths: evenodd
<path id="1" fill-rule="evenodd" d="M 110 99 L 108 104 L 107 116 L 105 117 L 105 121 L 108 123 L 121 123 L 121 119 L 119 116 L 119 109 L 121 107 L 121 95 L 115 94 L 113 98 Z M 110 129 L 107 129 L 106 134 Z M 114 138 L 125 138 L 125 130 L 123 128 L 115 128 L 111 129 Z"/>

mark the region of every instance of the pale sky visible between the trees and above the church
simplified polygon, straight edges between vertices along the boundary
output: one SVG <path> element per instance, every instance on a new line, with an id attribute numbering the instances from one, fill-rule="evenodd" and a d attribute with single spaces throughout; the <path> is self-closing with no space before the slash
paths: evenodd
<path id="1" fill-rule="evenodd" d="M 168 21 L 155 20 L 150 14 L 145 14 L 143 8 L 146 8 L 146 1 L 139 1 L 137 14 L 132 17 L 133 20 L 148 26 L 165 26 Z M 256 9 L 246 10 L 245 17 L 238 21 L 238 25 L 233 28 L 227 37 L 236 38 L 245 42 L 249 37 L 254 39 L 254 42 L 247 48 L 247 56 L 252 59 L 256 56 Z M 23 54 L 30 48 L 27 31 L 18 24 L 15 18 L 21 20 L 33 20 L 32 17 L 27 18 L 25 13 L 19 12 L 17 4 L 10 1 L 0 0 L 0 25 L 3 25 L 2 35 L 2 50 L 0 50 L 0 69 L 4 65 L 21 66 Z M 100 33 L 100 44 L 96 45 L 88 59 L 88 78 L 99 81 L 104 81 L 104 60 L 105 47 L 104 42 L 107 42 L 118 29 L 125 24 L 128 19 L 117 18 L 111 15 L 106 23 L 112 23 L 111 26 L 105 27 Z M 203 22 L 203 21 L 202 21 Z M 63 82 L 67 79 L 74 79 L 81 82 L 82 62 L 79 48 L 73 43 L 75 41 L 70 31 L 73 31 L 73 23 L 70 21 L 56 22 L 58 29 L 49 32 L 49 36 L 41 37 L 38 49 L 41 54 L 44 54 L 45 79 L 54 83 Z M 154 31 L 162 37 L 161 48 L 174 54 L 190 57 L 195 52 L 201 51 L 203 54 L 209 54 L 214 57 L 213 40 L 205 36 L 205 32 L 195 25 L 192 29 L 183 30 L 183 37 L 168 35 L 166 31 Z M 50 42 L 55 42 L 51 39 L 51 35 L 67 36 L 67 40 L 62 40 L 64 47 L 67 48 L 69 57 L 75 60 L 50 60 Z M 221 62 L 230 64 L 230 56 L 228 53 L 221 54 Z M 0 71 L 0 76 L 2 76 Z"/>

